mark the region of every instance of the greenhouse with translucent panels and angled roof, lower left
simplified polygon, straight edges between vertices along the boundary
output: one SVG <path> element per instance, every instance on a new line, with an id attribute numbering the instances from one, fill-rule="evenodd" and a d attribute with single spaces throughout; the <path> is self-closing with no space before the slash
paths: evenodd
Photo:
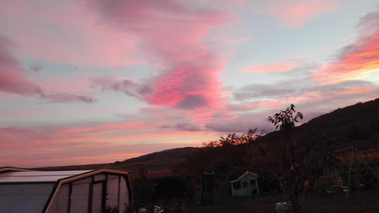
<path id="1" fill-rule="evenodd" d="M 10 213 L 100 213 L 111 206 L 124 210 L 131 203 L 127 172 L 33 171 L 0 168 L 0 209 Z"/>

